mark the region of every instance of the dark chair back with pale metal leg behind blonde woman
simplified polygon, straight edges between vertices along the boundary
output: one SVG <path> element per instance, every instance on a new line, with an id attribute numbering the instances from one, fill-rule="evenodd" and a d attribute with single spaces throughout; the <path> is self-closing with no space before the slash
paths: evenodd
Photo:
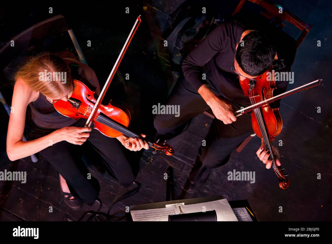
<path id="1" fill-rule="evenodd" d="M 69 36 L 63 35 L 65 32 Z M 63 50 L 65 47 L 68 47 L 68 40 L 72 41 L 80 61 L 87 64 L 73 30 L 62 15 L 56 15 L 41 21 L 12 37 L 0 48 L 0 89 L 6 91 L 10 87 L 13 79 L 10 75 L 17 71 L 17 66 L 27 56 L 45 49 L 52 51 Z M 12 46 L 12 41 L 14 41 L 14 46 Z M 54 46 L 56 48 L 59 47 L 59 50 L 55 49 Z M 10 89 L 12 88 L 10 87 Z M 11 102 L 11 94 L 9 92 L 3 92 L 3 95 L 7 102 Z M 6 97 L 7 95 L 10 96 Z"/>

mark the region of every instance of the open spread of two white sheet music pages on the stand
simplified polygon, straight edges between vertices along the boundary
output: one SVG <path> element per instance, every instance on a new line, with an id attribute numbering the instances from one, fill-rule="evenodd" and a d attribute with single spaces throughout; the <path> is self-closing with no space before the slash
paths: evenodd
<path id="1" fill-rule="evenodd" d="M 217 221 L 238 221 L 227 199 L 184 205 L 183 208 L 181 207 L 181 210 L 183 213 L 215 210 Z M 132 210 L 130 213 L 133 221 L 168 221 L 168 215 L 180 214 L 181 212 L 179 207 L 170 206 L 146 210 Z"/>

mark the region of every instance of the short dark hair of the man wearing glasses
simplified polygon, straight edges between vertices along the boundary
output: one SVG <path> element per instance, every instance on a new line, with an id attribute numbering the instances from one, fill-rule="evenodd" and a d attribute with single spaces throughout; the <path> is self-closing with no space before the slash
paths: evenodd
<path id="1" fill-rule="evenodd" d="M 258 76 L 267 71 L 276 55 L 275 46 L 261 31 L 252 31 L 239 43 L 235 58 L 240 68 L 250 76 Z"/>

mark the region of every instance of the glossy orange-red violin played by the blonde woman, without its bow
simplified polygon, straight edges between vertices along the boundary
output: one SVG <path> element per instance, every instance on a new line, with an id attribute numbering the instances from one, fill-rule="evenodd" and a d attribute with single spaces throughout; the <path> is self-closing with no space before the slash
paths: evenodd
<path id="1" fill-rule="evenodd" d="M 56 111 L 66 117 L 70 117 L 75 120 L 80 118 L 87 119 L 91 115 L 92 108 L 97 102 L 97 99 L 95 99 L 96 93 L 91 91 L 84 84 L 87 81 L 83 78 L 80 80 L 73 79 L 73 82 L 75 84 L 75 88 L 68 101 L 59 100 L 56 103 L 53 103 L 53 106 Z M 174 149 L 170 145 L 166 144 L 166 141 L 163 143 L 159 143 L 159 141 L 152 142 L 130 131 L 127 128 L 130 118 L 130 113 L 125 108 L 119 108 L 118 105 L 113 106 L 111 103 L 107 106 L 101 104 L 97 110 L 95 118 L 93 119 L 94 128 L 108 137 L 118 137 L 121 134 L 124 134 L 127 137 L 141 138 L 156 151 L 164 151 L 166 155 L 172 155 L 174 153 Z"/>

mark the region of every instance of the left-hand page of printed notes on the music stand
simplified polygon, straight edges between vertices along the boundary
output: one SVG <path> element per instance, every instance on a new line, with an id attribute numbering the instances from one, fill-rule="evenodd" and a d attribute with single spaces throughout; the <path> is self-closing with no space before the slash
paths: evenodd
<path id="1" fill-rule="evenodd" d="M 179 208 L 176 206 L 132 210 L 130 211 L 132 221 L 168 221 L 168 215 L 180 214 Z"/>

